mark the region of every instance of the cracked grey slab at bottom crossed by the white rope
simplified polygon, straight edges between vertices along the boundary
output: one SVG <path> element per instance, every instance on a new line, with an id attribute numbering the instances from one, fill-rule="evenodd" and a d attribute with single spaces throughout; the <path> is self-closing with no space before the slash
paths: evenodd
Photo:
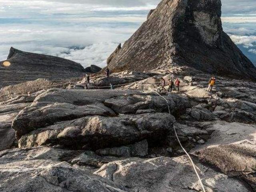
<path id="1" fill-rule="evenodd" d="M 244 183 L 195 161 L 207 192 L 249 192 Z M 94 174 L 122 183 L 132 192 L 194 192 L 201 186 L 188 158 L 128 158 L 110 162 Z"/>

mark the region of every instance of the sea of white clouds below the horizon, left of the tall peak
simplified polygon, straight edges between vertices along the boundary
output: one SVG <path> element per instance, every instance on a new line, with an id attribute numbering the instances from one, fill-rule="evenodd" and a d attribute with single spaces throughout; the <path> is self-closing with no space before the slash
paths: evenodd
<path id="1" fill-rule="evenodd" d="M 85 18 L 87 19 L 87 18 Z M 131 22 L 81 22 L 56 19 L 22 21 L 21 24 L 0 24 L 0 60 L 5 60 L 11 46 L 27 52 L 49 54 L 74 60 L 84 67 L 106 65 L 106 59 L 120 42 L 124 42 L 138 28 Z M 129 20 L 129 19 L 127 19 Z M 140 18 L 139 18 L 140 20 Z"/>

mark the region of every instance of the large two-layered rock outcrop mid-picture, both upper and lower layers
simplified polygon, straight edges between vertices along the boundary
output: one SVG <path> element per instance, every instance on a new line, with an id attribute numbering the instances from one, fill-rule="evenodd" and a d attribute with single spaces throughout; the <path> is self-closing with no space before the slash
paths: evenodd
<path id="1" fill-rule="evenodd" d="M 19 146 L 60 144 L 72 149 L 98 150 L 145 139 L 154 144 L 164 141 L 172 131 L 175 119 L 166 113 L 168 109 L 160 96 L 128 90 L 100 92 L 102 97 L 98 96 L 98 90 L 57 89 L 40 94 L 12 122 Z M 122 109 L 123 103 L 111 101 L 111 98 L 127 100 L 125 97 L 129 97 L 127 109 Z M 173 114 L 182 113 L 189 106 L 182 97 L 167 99 Z M 156 112 L 136 114 L 137 110 L 151 107 Z"/>

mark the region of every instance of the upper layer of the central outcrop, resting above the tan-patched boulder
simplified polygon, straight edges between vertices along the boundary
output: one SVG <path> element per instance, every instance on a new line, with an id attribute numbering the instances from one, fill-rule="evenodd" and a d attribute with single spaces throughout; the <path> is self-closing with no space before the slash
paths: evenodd
<path id="1" fill-rule="evenodd" d="M 127 98 L 132 99 L 128 100 L 130 106 L 126 107 L 128 112 L 125 112 L 126 108 L 122 109 L 121 106 Z M 147 102 L 141 103 L 140 98 Z M 116 103 L 119 100 L 120 102 Z M 184 97 L 172 96 L 168 100 L 173 114 L 182 113 L 189 106 Z M 118 106 L 119 104 L 120 106 Z M 86 116 L 111 117 L 116 116 L 116 113 L 135 114 L 137 110 L 150 107 L 158 112 L 168 112 L 165 101 L 160 96 L 152 96 L 152 93 L 148 93 L 147 96 L 145 92 L 128 90 L 52 89 L 40 94 L 30 106 L 22 110 L 12 122 L 12 128 L 16 130 L 16 136 L 19 139 L 24 134 L 56 122 L 75 120 Z M 121 109 L 118 110 L 118 108 Z M 122 118 L 122 116 L 117 118 Z"/>

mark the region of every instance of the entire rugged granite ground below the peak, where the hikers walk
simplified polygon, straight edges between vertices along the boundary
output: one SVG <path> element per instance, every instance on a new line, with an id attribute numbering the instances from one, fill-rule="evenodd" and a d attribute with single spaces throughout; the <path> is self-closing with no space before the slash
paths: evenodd
<path id="1" fill-rule="evenodd" d="M 3 88 L 0 190 L 202 191 L 176 128 L 207 192 L 255 191 L 256 83 L 219 77 L 208 92 L 208 75 L 179 71 L 171 93 L 173 71 L 111 74 L 129 82 L 115 90 Z"/>

